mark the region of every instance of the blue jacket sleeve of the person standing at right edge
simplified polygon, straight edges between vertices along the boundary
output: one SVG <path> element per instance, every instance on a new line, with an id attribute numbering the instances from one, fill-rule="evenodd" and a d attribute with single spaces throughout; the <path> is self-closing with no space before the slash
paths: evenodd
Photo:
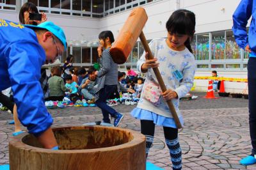
<path id="1" fill-rule="evenodd" d="M 246 25 L 252 15 L 252 0 L 242 0 L 233 14 L 233 32 L 236 42 L 244 49 L 248 45 Z"/>

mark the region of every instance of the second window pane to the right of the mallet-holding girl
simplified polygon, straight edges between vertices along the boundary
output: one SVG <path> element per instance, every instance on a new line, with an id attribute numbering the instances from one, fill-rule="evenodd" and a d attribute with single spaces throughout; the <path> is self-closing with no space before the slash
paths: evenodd
<path id="1" fill-rule="evenodd" d="M 225 59 L 225 31 L 212 33 L 212 59 Z"/>

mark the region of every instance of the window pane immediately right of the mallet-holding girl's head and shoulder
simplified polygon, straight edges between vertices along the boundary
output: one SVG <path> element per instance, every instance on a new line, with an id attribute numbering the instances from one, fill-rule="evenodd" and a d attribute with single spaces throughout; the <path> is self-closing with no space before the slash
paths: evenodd
<path id="1" fill-rule="evenodd" d="M 209 33 L 204 35 L 197 35 L 196 59 L 209 59 Z"/>

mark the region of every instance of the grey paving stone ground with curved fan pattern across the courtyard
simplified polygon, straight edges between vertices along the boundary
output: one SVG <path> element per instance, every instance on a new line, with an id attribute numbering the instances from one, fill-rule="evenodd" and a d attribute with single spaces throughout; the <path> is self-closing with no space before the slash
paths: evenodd
<path id="1" fill-rule="evenodd" d="M 204 99 L 205 93 L 194 93 L 196 100 L 180 101 L 184 128 L 179 132 L 183 169 L 256 169 L 241 166 L 239 160 L 250 153 L 248 128 L 248 100 L 244 98 Z M 115 109 L 125 117 L 120 127 L 140 132 L 140 121 L 129 112 L 136 105 L 117 105 Z M 101 120 L 97 107 L 67 107 L 49 110 L 54 127 L 82 125 Z M 12 139 L 13 125 L 8 124 L 12 114 L 0 112 L 0 165 L 8 164 L 8 141 Z M 148 160 L 163 169 L 172 169 L 170 155 L 164 143 L 163 129 L 156 127 L 154 144 Z"/>

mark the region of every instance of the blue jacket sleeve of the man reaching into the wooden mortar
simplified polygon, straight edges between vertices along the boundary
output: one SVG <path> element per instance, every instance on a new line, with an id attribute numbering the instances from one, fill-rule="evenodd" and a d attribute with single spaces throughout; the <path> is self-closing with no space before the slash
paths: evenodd
<path id="1" fill-rule="evenodd" d="M 52 117 L 44 105 L 40 86 L 40 69 L 45 60 L 37 43 L 16 42 L 5 51 L 18 117 L 28 132 L 39 136 L 52 125 Z"/>

